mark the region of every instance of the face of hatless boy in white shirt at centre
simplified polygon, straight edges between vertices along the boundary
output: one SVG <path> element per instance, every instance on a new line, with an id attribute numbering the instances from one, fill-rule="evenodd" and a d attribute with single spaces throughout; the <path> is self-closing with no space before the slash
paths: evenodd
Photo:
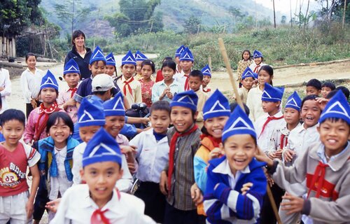
<path id="1" fill-rule="evenodd" d="M 152 111 L 151 123 L 155 133 L 167 134 L 167 130 L 170 125 L 169 112 L 165 110 Z"/>

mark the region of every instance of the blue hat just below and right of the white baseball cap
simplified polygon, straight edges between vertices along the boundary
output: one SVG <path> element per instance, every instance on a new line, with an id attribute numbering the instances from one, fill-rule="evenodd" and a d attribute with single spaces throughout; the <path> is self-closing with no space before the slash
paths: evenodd
<path id="1" fill-rule="evenodd" d="M 108 116 L 125 116 L 124 97 L 122 92 L 118 92 L 113 99 L 109 99 L 103 104 L 104 115 Z"/>

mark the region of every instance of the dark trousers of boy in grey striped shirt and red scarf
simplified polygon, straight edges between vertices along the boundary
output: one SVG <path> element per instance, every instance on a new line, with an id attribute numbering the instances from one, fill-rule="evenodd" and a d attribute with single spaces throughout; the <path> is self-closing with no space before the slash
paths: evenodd
<path id="1" fill-rule="evenodd" d="M 169 203 L 166 204 L 164 224 L 197 224 L 200 222 L 197 209 L 182 211 Z"/>

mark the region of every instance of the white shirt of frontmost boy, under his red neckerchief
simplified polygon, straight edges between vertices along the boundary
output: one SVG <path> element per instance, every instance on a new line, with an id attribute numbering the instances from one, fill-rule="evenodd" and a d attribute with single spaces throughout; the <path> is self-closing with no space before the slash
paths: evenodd
<path id="1" fill-rule="evenodd" d="M 113 190 L 113 196 L 101 209 L 105 211 L 104 216 L 111 223 L 133 224 L 133 223 L 155 223 L 151 218 L 144 215 L 145 204 L 134 195 L 119 193 Z M 89 186 L 79 184 L 69 188 L 63 195 L 55 218 L 51 224 L 86 224 L 90 223 L 91 216 L 99 209 L 90 197 Z"/>

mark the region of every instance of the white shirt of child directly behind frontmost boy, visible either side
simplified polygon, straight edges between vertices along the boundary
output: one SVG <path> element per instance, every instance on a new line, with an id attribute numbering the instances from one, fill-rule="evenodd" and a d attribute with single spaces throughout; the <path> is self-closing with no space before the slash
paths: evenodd
<path id="1" fill-rule="evenodd" d="M 86 143 L 83 142 L 76 146 L 73 151 L 73 167 L 71 172 L 73 174 L 73 185 L 81 183 L 80 169 L 83 169 L 83 154 L 86 148 Z M 116 187 L 123 192 L 128 192 L 132 188 L 132 175 L 130 174 L 129 167 L 127 167 L 127 159 L 123 154 L 122 158 L 123 176 L 116 183 Z"/>

